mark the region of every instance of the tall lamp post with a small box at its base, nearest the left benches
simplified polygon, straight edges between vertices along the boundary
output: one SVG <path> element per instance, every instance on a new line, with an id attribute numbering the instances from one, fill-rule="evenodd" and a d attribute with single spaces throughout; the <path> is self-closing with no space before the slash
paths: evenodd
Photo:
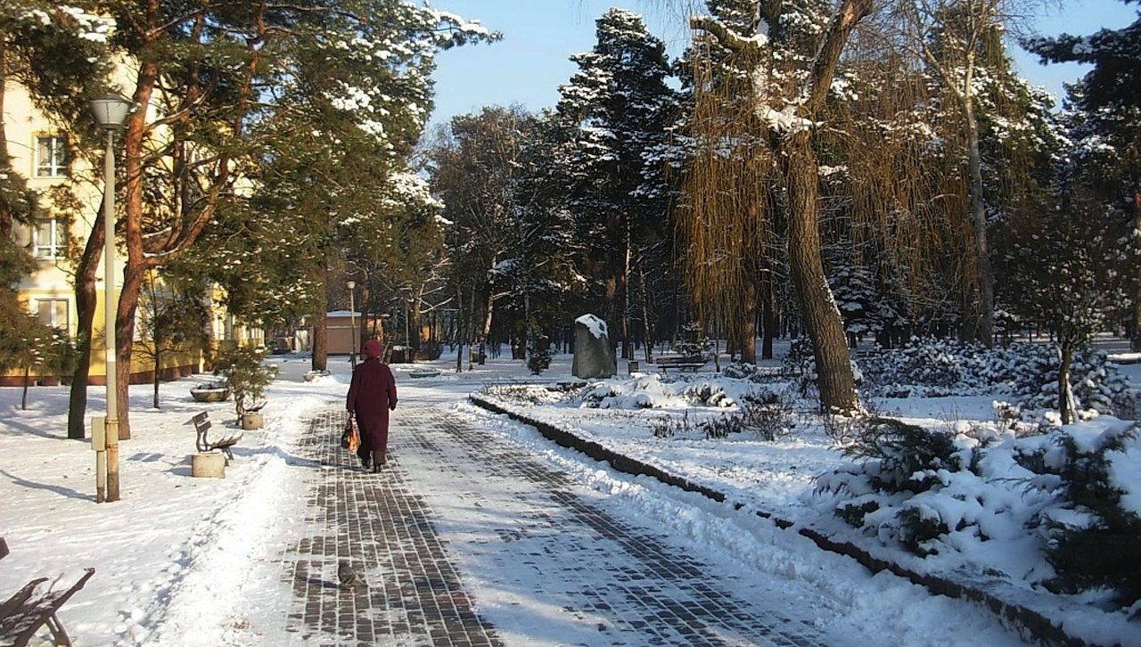
<path id="1" fill-rule="evenodd" d="M 119 394 L 115 363 L 115 131 L 131 112 L 131 103 L 119 95 L 103 95 L 91 99 L 91 114 L 99 128 L 107 131 L 107 148 L 103 154 L 103 291 L 104 291 L 104 337 L 106 342 L 107 372 L 107 419 L 104 422 L 106 442 L 106 498 L 97 501 L 119 501 Z M 98 447 L 96 447 L 98 450 Z M 99 452 L 97 452 L 99 453 Z M 98 462 L 98 459 L 97 459 Z M 100 464 L 96 466 L 96 491 Z"/>

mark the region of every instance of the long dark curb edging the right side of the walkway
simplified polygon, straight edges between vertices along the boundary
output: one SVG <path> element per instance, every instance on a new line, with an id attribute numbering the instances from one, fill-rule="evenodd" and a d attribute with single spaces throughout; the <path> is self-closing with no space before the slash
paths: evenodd
<path id="1" fill-rule="evenodd" d="M 513 420 L 529 424 L 539 430 L 539 432 L 545 438 L 553 440 L 558 445 L 580 451 L 597 461 L 608 462 L 610 463 L 610 467 L 621 472 L 634 476 L 649 476 L 667 485 L 680 487 L 686 492 L 702 494 L 703 496 L 712 499 L 719 503 L 726 502 L 727 496 L 725 493 L 718 492 L 711 487 L 698 485 L 689 479 L 669 474 L 661 468 L 631 459 L 630 456 L 608 450 L 593 440 L 586 440 L 585 438 L 576 436 L 564 429 L 559 429 L 547 422 L 507 410 L 478 395 L 471 394 L 468 396 L 468 399 L 476 406 L 486 409 L 493 413 L 508 415 Z M 734 503 L 734 509 L 736 510 L 739 510 L 743 507 L 743 503 Z M 758 517 L 772 520 L 772 523 L 782 529 L 788 529 L 795 525 L 793 521 L 782 519 L 763 510 L 754 510 L 754 512 Z M 816 542 L 816 545 L 823 550 L 855 559 L 872 573 L 890 571 L 892 574 L 904 577 L 913 584 L 919 584 L 934 595 L 979 602 L 1001 620 L 1013 625 L 1013 628 L 1018 630 L 1019 634 L 1023 638 L 1030 638 L 1046 645 L 1065 645 L 1067 647 L 1083 647 L 1090 645 L 1081 638 L 1070 636 L 1066 632 L 1066 630 L 1051 622 L 1050 618 L 1041 613 L 1022 605 L 1004 601 L 981 589 L 968 587 L 938 575 L 923 575 L 921 573 L 915 573 L 914 571 L 905 568 L 898 564 L 875 557 L 863 548 L 859 548 L 850 542 L 832 540 L 812 528 L 801 527 L 796 528 L 796 532 L 800 535 Z"/>

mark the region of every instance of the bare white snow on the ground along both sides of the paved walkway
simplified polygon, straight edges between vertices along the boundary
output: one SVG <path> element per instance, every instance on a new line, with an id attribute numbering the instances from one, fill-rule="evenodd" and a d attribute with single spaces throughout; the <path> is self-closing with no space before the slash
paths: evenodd
<path id="1" fill-rule="evenodd" d="M 0 561 L 0 595 L 10 595 L 38 576 L 73 576 L 81 567 L 95 566 L 95 577 L 62 613 L 80 645 L 237 644 L 235 637 L 249 637 L 249 624 L 257 625 L 259 644 L 296 640 L 296 636 L 273 629 L 284 625 L 275 620 L 285 609 L 253 605 L 251 608 L 260 608 L 261 617 L 237 617 L 230 614 L 230 601 L 236 597 L 289 599 L 282 591 L 286 584 L 273 571 L 274 556 L 296 539 L 294 521 L 304 503 L 296 490 L 305 482 L 306 471 L 314 469 L 291 455 L 291 447 L 305 431 L 308 415 L 341 405 L 349 366 L 343 357 L 330 358 L 332 374 L 306 382 L 301 375 L 309 369 L 308 359 L 276 356 L 272 361 L 282 370 L 268 390 L 266 428 L 245 432 L 235 448 L 237 460 L 224 480 L 189 477 L 194 451 L 189 418 L 205 410 L 216 427 L 236 426 L 233 404 L 193 402 L 188 389 L 202 377 L 163 383 L 159 410 L 151 409 L 151 386 L 131 387 L 132 439 L 120 445 L 122 500 L 115 503 L 95 503 L 95 453 L 88 442 L 65 438 L 67 388 L 31 389 L 27 411 L 19 409 L 21 389 L 0 388 L 0 536 L 11 549 Z M 567 380 L 569 356 L 558 356 L 537 380 L 526 373 L 521 362 L 489 358 L 485 366 L 459 375 L 452 372 L 454 363 L 454 355 L 432 363 L 431 367 L 444 373 L 418 380 L 408 378 L 413 366 L 395 366 L 400 386 L 414 388 L 402 398 L 415 393 L 422 401 L 459 406 L 535 452 L 550 453 L 552 460 L 569 466 L 596 488 L 625 501 L 639 513 L 667 519 L 671 532 L 694 542 L 725 545 L 733 559 L 812 579 L 850 599 L 850 622 L 856 628 L 876 628 L 884 608 L 890 607 L 867 601 L 869 590 L 880 591 L 877 595 L 885 597 L 881 601 L 898 597 L 898 615 L 891 624 L 907 630 L 885 638 L 885 644 L 912 642 L 905 636 L 916 640 L 946 636 L 948 617 L 962 614 L 957 602 L 916 592 L 916 588 L 888 575 L 873 577 L 849 560 L 822 556 L 807 540 L 759 523 L 747 511 L 734 513 L 728 507 L 688 494 L 681 499 L 677 493 L 669 499 L 646 495 L 647 491 L 672 488 L 610 472 L 540 439 L 528 428 L 463 404 L 467 393 L 486 385 Z M 1141 386 L 1141 365 L 1123 369 Z M 89 415 L 102 414 L 103 396 L 102 387 L 90 389 Z M 912 398 L 881 406 L 915 420 L 948 424 L 993 419 L 987 398 Z M 772 443 L 750 438 L 707 442 L 697 436 L 655 438 L 647 416 L 659 414 L 657 411 L 536 404 L 528 413 L 551 416 L 560 426 L 578 429 L 667 471 L 715 484 L 747 508 L 778 516 L 794 517 L 807 510 L 803 500 L 812 491 L 815 477 L 844 460 L 818 428 L 808 426 Z M 678 506 L 679 500 L 687 506 Z M 802 547 L 788 552 L 788 542 Z M 780 550 L 774 549 L 777 545 Z M 62 579 L 60 583 L 71 582 Z M 915 604 L 916 596 L 926 602 Z M 986 616 L 985 612 L 979 614 Z M 994 638 L 997 624 L 988 622 L 971 615 L 970 629 L 960 629 L 970 633 L 963 636 L 962 644 L 972 642 L 976 632 Z M 1141 631 L 1119 639 L 1141 645 Z"/>

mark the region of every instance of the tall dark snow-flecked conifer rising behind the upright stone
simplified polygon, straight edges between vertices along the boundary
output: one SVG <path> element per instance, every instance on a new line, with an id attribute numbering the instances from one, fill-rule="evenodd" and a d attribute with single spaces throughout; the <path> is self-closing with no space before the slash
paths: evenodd
<path id="1" fill-rule="evenodd" d="M 609 9 L 596 24 L 593 49 L 570 57 L 578 72 L 559 88 L 558 113 L 576 127 L 567 160 L 575 169 L 572 208 L 593 243 L 606 316 L 620 324 L 622 356 L 630 358 L 632 264 L 669 211 L 662 152 L 677 97 L 666 84 L 665 45 L 641 16 Z"/>

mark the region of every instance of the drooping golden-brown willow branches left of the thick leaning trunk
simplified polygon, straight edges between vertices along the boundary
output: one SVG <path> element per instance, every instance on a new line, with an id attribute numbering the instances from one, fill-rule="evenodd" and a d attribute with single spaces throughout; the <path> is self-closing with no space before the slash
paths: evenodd
<path id="1" fill-rule="evenodd" d="M 752 0 L 711 0 L 710 15 L 735 33 L 756 30 Z M 679 123 L 691 157 L 685 162 L 677 224 L 686 244 L 686 277 L 703 320 L 719 316 L 742 361 L 756 361 L 758 309 L 771 294 L 782 220 L 776 160 L 767 128 L 753 111 L 751 72 L 758 60 L 741 56 L 705 32 L 681 60 L 687 111 Z M 741 215 L 748 217 L 742 218 Z M 771 343 L 770 343 L 771 348 Z"/>

